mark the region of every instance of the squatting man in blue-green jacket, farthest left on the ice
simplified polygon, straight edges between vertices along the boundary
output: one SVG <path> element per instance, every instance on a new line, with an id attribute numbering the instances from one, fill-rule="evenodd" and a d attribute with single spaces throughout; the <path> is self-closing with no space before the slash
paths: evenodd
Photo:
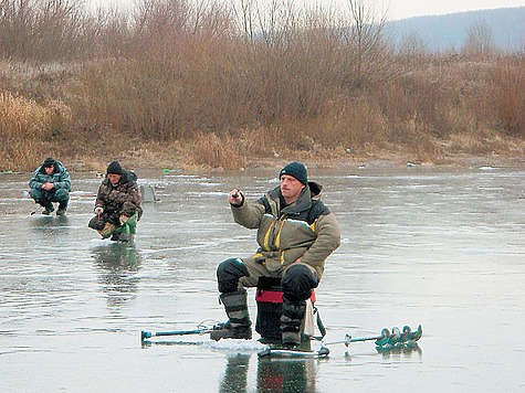
<path id="1" fill-rule="evenodd" d="M 51 157 L 36 168 L 29 181 L 29 194 L 44 208 L 42 214 L 49 215 L 54 211 L 53 203 L 59 202 L 56 215 L 65 214 L 70 201 L 71 181 L 70 173 L 62 164 Z"/>

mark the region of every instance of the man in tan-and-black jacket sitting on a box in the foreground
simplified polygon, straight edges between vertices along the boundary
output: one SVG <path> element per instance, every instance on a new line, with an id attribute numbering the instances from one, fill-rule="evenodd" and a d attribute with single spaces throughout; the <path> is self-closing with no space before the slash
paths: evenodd
<path id="1" fill-rule="evenodd" d="M 258 252 L 249 258 L 229 258 L 217 268 L 220 299 L 229 320 L 216 325 L 211 339 L 251 339 L 245 287 L 259 278 L 281 278 L 283 312 L 282 341 L 301 343 L 305 300 L 319 284 L 325 259 L 340 243 L 335 215 L 321 202 L 322 187 L 308 182 L 306 168 L 291 162 L 279 173 L 280 185 L 254 203 L 233 189 L 228 200 L 240 225 L 258 230 Z"/>

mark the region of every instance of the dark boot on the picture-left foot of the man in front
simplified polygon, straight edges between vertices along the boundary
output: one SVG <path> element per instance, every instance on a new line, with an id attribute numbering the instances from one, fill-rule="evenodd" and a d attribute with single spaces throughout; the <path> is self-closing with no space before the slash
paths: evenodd
<path id="1" fill-rule="evenodd" d="M 252 338 L 252 322 L 248 314 L 248 295 L 245 289 L 239 289 L 234 293 L 225 293 L 220 296 L 224 305 L 228 322 L 218 323 L 210 333 L 210 339 L 219 341 L 220 339 L 244 339 Z"/>

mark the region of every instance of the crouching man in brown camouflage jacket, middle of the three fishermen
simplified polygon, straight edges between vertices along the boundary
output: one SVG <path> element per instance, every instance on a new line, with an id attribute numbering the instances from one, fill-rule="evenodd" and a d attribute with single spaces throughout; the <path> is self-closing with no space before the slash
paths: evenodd
<path id="1" fill-rule="evenodd" d="M 112 236 L 112 241 L 126 242 L 128 235 L 135 234 L 137 221 L 143 214 L 136 179 L 136 174 L 123 169 L 118 161 L 107 167 L 107 176 L 96 195 L 96 216 L 88 224 L 103 238 Z"/>

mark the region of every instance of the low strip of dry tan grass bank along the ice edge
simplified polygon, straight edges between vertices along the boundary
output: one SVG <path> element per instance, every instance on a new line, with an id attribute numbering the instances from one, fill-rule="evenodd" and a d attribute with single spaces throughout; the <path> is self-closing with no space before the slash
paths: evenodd
<path id="1" fill-rule="evenodd" d="M 438 157 L 426 157 L 422 159 L 418 155 L 410 152 L 390 152 L 376 151 L 366 155 L 351 155 L 349 151 L 332 151 L 323 152 L 274 152 L 271 156 L 237 156 L 228 160 L 228 152 L 222 152 L 213 161 L 212 157 L 202 160 L 201 156 L 197 156 L 197 146 L 181 147 L 177 146 L 157 146 L 151 149 L 134 149 L 129 151 L 107 152 L 102 155 L 74 155 L 70 156 L 60 147 L 41 149 L 40 151 L 29 151 L 23 162 L 3 160 L 0 172 L 30 172 L 33 171 L 45 157 L 53 157 L 62 161 L 70 171 L 98 171 L 105 172 L 108 162 L 116 159 L 126 168 L 135 169 L 156 169 L 156 170 L 182 170 L 188 172 L 202 172 L 207 170 L 244 170 L 258 168 L 282 168 L 291 161 L 304 162 L 308 168 L 329 169 L 329 168 L 401 168 L 401 167 L 498 167 L 498 168 L 518 168 L 525 166 L 523 156 L 523 144 L 508 144 L 513 149 L 503 153 L 492 152 L 484 156 L 474 156 L 466 153 L 442 153 Z M 201 147 L 200 147 L 201 148 Z M 227 150 L 228 147 L 220 149 Z M 218 156 L 221 153 L 218 152 Z"/>

